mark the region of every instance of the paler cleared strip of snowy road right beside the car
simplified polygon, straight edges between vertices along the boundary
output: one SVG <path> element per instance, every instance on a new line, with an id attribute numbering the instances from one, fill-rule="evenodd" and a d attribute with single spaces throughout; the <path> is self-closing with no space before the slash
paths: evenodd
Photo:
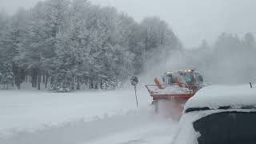
<path id="1" fill-rule="evenodd" d="M 92 144 L 170 144 L 170 140 L 177 128 L 177 123 L 168 121 L 155 121 L 136 126 L 130 130 L 119 131 L 106 138 L 91 141 Z"/>

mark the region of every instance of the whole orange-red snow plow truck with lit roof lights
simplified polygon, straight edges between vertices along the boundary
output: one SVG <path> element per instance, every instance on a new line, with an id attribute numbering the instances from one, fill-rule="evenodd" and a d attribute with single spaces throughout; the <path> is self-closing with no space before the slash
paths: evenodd
<path id="1" fill-rule="evenodd" d="M 172 115 L 180 116 L 186 101 L 203 86 L 202 74 L 186 69 L 168 71 L 162 78 L 154 78 L 154 85 L 146 85 L 146 89 L 153 98 L 156 113 L 163 108 Z"/>

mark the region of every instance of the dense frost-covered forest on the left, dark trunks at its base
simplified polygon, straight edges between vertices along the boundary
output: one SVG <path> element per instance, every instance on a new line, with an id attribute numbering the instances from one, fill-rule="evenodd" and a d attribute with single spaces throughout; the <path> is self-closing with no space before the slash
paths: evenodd
<path id="1" fill-rule="evenodd" d="M 135 22 L 114 7 L 48 0 L 14 15 L 0 13 L 0 82 L 40 90 L 115 89 L 162 47 L 181 43 L 160 18 Z M 47 87 L 48 86 L 48 87 Z"/>

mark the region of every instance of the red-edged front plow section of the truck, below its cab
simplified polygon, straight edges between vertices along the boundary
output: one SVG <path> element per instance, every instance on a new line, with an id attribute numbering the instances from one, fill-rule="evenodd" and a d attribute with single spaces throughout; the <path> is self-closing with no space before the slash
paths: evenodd
<path id="1" fill-rule="evenodd" d="M 158 87 L 159 85 L 146 85 L 146 89 L 153 98 L 152 105 L 155 113 L 178 120 L 182 115 L 184 104 L 194 96 L 194 91 L 182 83 L 161 85 L 164 89 L 158 89 Z"/>

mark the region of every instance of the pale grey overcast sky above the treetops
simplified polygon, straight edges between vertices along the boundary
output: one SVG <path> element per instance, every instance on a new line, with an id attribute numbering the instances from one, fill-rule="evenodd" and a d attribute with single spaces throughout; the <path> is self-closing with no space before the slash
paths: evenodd
<path id="1" fill-rule="evenodd" d="M 40 0 L 0 0 L 0 8 L 14 13 Z M 256 0 L 91 0 L 114 6 L 136 20 L 158 16 L 169 23 L 186 47 L 198 46 L 203 39 L 213 43 L 222 32 L 256 34 Z"/>

